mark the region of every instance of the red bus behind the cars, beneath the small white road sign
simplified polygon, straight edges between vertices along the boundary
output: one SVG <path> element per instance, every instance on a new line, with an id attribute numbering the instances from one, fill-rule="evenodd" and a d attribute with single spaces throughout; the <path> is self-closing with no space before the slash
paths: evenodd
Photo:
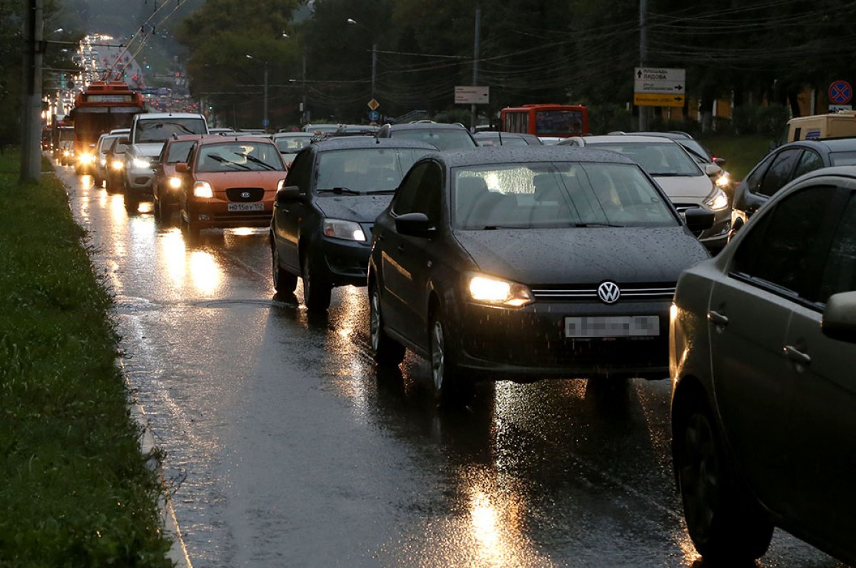
<path id="1" fill-rule="evenodd" d="M 500 112 L 502 132 L 568 138 L 588 134 L 588 109 L 581 104 L 524 104 Z"/>

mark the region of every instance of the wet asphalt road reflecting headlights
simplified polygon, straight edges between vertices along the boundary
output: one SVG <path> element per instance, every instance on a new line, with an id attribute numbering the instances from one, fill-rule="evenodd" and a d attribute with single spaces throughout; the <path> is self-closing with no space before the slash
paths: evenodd
<path id="1" fill-rule="evenodd" d="M 61 169 L 116 294 L 132 388 L 193 566 L 702 566 L 669 456 L 669 382 L 480 385 L 368 355 L 365 288 L 274 299 L 264 229 L 188 245 Z M 776 531 L 763 566 L 839 566 Z"/>

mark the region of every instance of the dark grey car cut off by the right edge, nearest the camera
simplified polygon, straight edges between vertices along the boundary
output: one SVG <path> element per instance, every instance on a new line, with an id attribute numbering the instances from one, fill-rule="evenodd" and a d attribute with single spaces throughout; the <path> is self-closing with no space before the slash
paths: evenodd
<path id="1" fill-rule="evenodd" d="M 705 559 L 751 562 L 775 524 L 856 562 L 854 291 L 856 167 L 784 187 L 681 275 L 673 455 Z"/>

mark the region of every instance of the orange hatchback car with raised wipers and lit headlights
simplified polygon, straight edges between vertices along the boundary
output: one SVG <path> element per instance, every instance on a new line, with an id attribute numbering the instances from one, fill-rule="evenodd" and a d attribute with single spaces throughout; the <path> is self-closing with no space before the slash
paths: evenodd
<path id="1" fill-rule="evenodd" d="M 203 136 L 181 176 L 181 228 L 196 238 L 205 228 L 267 227 L 286 167 L 270 139 Z"/>

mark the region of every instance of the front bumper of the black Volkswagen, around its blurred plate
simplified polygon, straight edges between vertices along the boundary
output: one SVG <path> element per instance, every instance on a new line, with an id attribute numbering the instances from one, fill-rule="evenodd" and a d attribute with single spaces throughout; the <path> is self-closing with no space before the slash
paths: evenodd
<path id="1" fill-rule="evenodd" d="M 457 363 L 482 379 L 669 376 L 671 300 L 599 302 L 536 301 L 518 310 L 465 303 L 456 311 Z M 654 337 L 572 339 L 565 318 L 657 316 Z"/>

